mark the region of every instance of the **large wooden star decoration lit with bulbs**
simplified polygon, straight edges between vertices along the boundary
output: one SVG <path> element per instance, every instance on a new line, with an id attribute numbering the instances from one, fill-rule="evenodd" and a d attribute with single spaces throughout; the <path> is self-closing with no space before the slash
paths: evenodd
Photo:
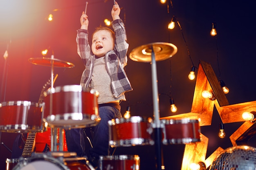
<path id="1" fill-rule="evenodd" d="M 216 100 L 205 99 L 202 97 L 203 91 L 213 92 Z M 256 111 L 256 101 L 229 105 L 211 64 L 200 60 L 191 112 L 162 117 L 161 119 L 198 119 L 200 120 L 199 126 L 209 126 L 211 125 L 214 106 L 216 107 L 223 124 L 244 121 L 242 118 L 243 112 Z M 254 130 L 255 126 L 255 122 L 245 121 L 229 137 L 232 145 L 237 146 L 238 141 L 248 141 L 256 134 L 256 130 Z M 202 133 L 200 135 L 200 142 L 185 145 L 181 170 L 189 170 L 191 163 L 199 162 L 204 162 L 206 168 L 208 168 L 220 152 L 224 150 L 219 147 L 206 159 L 208 138 Z"/>

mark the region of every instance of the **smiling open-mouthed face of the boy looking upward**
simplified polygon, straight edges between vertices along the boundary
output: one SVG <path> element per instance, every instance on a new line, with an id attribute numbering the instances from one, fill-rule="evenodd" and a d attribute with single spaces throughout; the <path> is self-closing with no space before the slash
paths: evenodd
<path id="1" fill-rule="evenodd" d="M 100 30 L 92 37 L 92 53 L 97 57 L 103 57 L 108 51 L 114 49 L 114 40 L 107 30 Z"/>

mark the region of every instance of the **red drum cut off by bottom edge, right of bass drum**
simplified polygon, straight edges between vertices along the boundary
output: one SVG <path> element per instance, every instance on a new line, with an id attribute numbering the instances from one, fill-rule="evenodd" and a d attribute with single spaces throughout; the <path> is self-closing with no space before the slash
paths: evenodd
<path id="1" fill-rule="evenodd" d="M 139 170 L 138 155 L 100 156 L 101 170 Z"/>

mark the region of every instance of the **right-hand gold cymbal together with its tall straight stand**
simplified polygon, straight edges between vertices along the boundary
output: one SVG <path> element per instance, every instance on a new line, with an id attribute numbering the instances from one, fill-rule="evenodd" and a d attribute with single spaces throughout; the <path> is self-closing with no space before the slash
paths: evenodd
<path id="1" fill-rule="evenodd" d="M 157 68 L 156 61 L 165 60 L 177 53 L 177 47 L 170 43 L 155 42 L 146 44 L 133 49 L 130 58 L 137 62 L 150 62 L 152 73 L 152 90 L 153 90 L 153 116 L 155 129 L 155 156 L 157 170 L 162 169 L 162 133 L 161 122 L 159 119 L 159 95 L 157 86 Z M 151 57 L 150 57 L 151 55 Z"/>

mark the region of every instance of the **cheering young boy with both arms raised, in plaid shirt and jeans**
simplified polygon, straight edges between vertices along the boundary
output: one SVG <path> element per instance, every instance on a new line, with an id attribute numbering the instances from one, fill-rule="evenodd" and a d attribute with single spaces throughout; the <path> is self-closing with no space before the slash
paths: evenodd
<path id="1" fill-rule="evenodd" d="M 81 77 L 81 86 L 99 91 L 98 104 L 101 121 L 95 127 L 92 148 L 87 155 L 89 162 L 98 166 L 99 156 L 109 154 L 108 120 L 120 118 L 120 101 L 126 100 L 124 93 L 132 91 L 124 71 L 127 64 L 128 44 L 124 23 L 119 17 L 120 7 L 115 2 L 111 15 L 115 33 L 106 27 L 95 29 L 92 34 L 92 46 L 88 42 L 88 16 L 81 15 L 81 29 L 77 32 L 77 52 L 85 70 Z M 92 50 L 92 51 L 91 51 Z M 82 129 L 66 131 L 67 148 L 78 156 L 85 155 L 85 144 Z"/>

